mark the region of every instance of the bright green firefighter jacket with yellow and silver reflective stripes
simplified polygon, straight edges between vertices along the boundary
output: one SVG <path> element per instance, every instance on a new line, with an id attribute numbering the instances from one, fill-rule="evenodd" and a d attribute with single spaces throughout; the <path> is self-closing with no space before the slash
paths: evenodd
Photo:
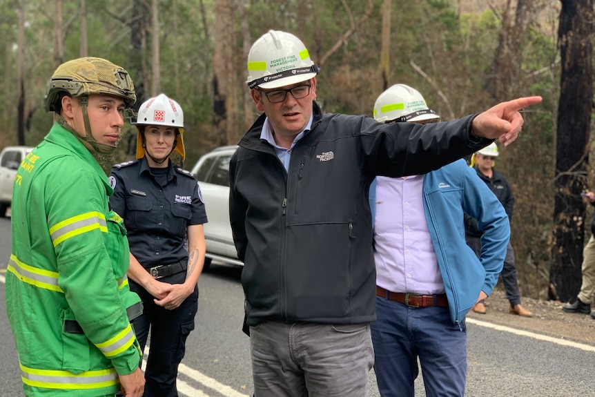
<path id="1" fill-rule="evenodd" d="M 113 189 L 88 149 L 54 124 L 21 163 L 12 197 L 6 311 L 26 396 L 105 396 L 141 358 Z"/>

